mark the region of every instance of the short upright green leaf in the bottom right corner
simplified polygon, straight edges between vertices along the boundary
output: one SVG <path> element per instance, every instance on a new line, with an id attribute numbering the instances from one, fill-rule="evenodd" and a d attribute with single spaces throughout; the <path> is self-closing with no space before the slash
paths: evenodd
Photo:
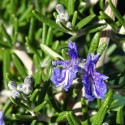
<path id="1" fill-rule="evenodd" d="M 117 116 L 116 116 L 116 124 L 124 125 L 123 106 L 118 107 Z"/>

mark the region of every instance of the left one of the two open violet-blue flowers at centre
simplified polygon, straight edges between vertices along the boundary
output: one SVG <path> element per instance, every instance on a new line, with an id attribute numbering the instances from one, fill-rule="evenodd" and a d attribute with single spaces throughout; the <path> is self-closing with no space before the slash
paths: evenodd
<path id="1" fill-rule="evenodd" d="M 53 66 L 61 66 L 61 68 L 54 67 L 50 78 L 56 87 L 64 87 L 65 91 L 68 91 L 73 79 L 76 78 L 77 72 L 80 71 L 76 44 L 72 41 L 68 41 L 67 48 L 70 60 L 53 61 Z"/>

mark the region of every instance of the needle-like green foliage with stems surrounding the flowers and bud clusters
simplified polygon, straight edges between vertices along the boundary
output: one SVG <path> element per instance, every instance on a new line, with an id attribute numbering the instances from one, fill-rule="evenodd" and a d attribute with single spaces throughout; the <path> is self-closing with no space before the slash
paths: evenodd
<path id="1" fill-rule="evenodd" d="M 112 0 L 0 0 L 0 111 L 6 125 L 124 125 L 125 10 L 117 2 L 118 7 Z M 56 21 L 57 4 L 64 6 L 71 27 Z M 80 58 L 90 53 L 105 56 L 98 69 L 109 76 L 104 99 L 86 100 L 79 79 L 80 84 L 66 92 L 51 83 L 52 61 L 69 60 L 68 40 L 76 42 Z M 9 91 L 2 95 L 9 81 L 22 84 L 27 75 L 34 78 L 31 94 L 21 93 L 20 99 L 10 97 Z"/>

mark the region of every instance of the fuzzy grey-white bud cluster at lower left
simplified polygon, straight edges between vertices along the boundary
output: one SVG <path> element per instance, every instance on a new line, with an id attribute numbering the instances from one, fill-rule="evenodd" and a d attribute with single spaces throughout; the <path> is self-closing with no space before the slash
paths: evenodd
<path id="1" fill-rule="evenodd" d="M 20 98 L 21 94 L 23 93 L 25 95 L 29 95 L 31 94 L 31 92 L 33 91 L 33 83 L 34 80 L 31 76 L 27 76 L 24 79 L 24 83 L 23 84 L 16 84 L 14 81 L 10 81 L 8 83 L 8 87 L 11 90 L 11 95 L 14 99 L 18 99 Z"/>

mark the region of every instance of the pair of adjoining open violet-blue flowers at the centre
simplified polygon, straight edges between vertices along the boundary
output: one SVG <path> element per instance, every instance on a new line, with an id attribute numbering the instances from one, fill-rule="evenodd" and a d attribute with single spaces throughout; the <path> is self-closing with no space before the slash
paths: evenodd
<path id="1" fill-rule="evenodd" d="M 68 41 L 68 54 L 70 60 L 57 60 L 53 61 L 51 81 L 56 87 L 64 87 L 68 91 L 73 80 L 76 78 L 77 73 L 82 74 L 82 83 L 84 87 L 84 97 L 89 100 L 94 98 L 105 97 L 107 88 L 104 80 L 108 79 L 107 76 L 96 71 L 95 65 L 100 57 L 100 54 L 88 55 L 87 60 L 79 59 L 76 44 Z M 61 66 L 58 68 L 56 66 Z"/>

